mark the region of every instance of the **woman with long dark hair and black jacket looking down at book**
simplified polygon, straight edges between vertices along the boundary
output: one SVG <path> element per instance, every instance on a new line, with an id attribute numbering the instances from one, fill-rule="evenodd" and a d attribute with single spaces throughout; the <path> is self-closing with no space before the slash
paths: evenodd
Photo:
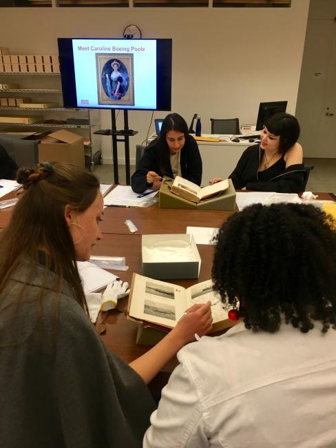
<path id="1" fill-rule="evenodd" d="M 196 140 L 188 134 L 188 125 L 179 114 L 169 114 L 162 122 L 160 136 L 151 142 L 131 179 L 132 190 L 143 193 L 158 190 L 162 176 L 182 176 L 200 185 L 202 159 Z"/>

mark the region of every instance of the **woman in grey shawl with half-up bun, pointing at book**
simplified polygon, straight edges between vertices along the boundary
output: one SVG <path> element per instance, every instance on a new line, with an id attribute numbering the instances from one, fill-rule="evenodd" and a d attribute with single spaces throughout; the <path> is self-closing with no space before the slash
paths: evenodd
<path id="1" fill-rule="evenodd" d="M 42 163 L 17 181 L 25 192 L 0 234 L 0 446 L 140 447 L 154 409 L 145 383 L 209 331 L 210 303 L 128 366 L 90 322 L 76 265 L 103 237 L 98 179 Z"/>

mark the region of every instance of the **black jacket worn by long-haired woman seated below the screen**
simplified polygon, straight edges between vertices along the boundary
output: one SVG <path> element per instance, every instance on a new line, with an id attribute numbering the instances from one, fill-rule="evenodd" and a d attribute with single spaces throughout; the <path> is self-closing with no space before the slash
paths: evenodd
<path id="1" fill-rule="evenodd" d="M 143 193 L 147 188 L 153 184 L 147 183 L 147 172 L 155 171 L 159 176 L 169 176 L 173 178 L 173 171 L 171 165 L 165 167 L 165 172 L 160 168 L 161 149 L 158 139 L 151 142 L 145 149 L 142 158 L 139 161 L 138 169 L 132 175 L 131 186 L 136 193 Z M 180 153 L 180 167 L 181 176 L 188 181 L 200 185 L 202 181 L 202 159 L 196 140 L 188 135 L 185 140 L 185 145 L 182 147 Z"/>

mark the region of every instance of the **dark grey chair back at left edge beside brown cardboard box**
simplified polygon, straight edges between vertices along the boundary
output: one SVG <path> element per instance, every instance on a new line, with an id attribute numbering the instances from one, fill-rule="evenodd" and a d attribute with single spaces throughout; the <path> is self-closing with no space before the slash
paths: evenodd
<path id="1" fill-rule="evenodd" d="M 18 167 L 34 167 L 39 162 L 39 142 L 0 136 L 0 145 Z"/>

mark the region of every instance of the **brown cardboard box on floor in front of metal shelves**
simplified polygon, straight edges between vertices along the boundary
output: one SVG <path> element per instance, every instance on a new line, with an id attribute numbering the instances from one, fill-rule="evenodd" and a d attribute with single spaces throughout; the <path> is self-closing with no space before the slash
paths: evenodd
<path id="1" fill-rule="evenodd" d="M 59 130 L 42 137 L 39 162 L 58 161 L 85 167 L 83 137 L 74 132 Z"/>

